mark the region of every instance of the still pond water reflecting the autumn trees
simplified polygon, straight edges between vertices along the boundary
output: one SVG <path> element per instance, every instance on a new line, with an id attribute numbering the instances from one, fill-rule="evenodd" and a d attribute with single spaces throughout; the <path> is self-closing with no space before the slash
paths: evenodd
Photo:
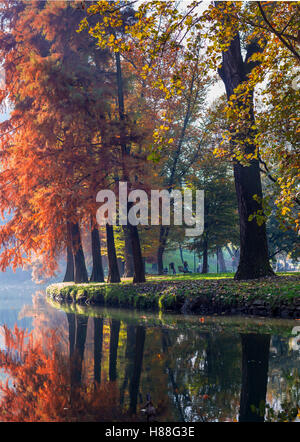
<path id="1" fill-rule="evenodd" d="M 60 306 L 30 284 L 2 287 L 0 421 L 299 421 L 299 325 Z"/>

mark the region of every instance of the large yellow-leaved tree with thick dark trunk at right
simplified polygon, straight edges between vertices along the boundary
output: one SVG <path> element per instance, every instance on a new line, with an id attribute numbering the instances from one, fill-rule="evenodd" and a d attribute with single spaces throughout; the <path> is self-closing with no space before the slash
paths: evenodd
<path id="1" fill-rule="evenodd" d="M 269 101 L 272 105 L 274 104 L 270 112 L 271 118 L 267 121 L 270 122 L 270 130 L 279 130 L 278 121 L 274 117 L 280 110 L 280 106 L 276 105 L 276 100 L 282 89 L 277 89 L 276 86 L 287 85 L 295 79 L 295 74 L 288 76 L 288 66 L 296 67 L 295 62 L 298 60 L 295 51 L 297 52 L 296 18 L 299 16 L 299 8 L 295 2 L 285 3 L 285 5 L 283 2 L 277 2 L 277 4 L 278 6 L 275 7 L 270 4 L 269 7 L 272 20 L 279 25 L 274 27 L 270 19 L 266 21 L 266 17 L 262 15 L 260 2 L 258 5 L 251 3 L 249 6 L 241 2 L 211 3 L 203 12 L 199 11 L 199 5 L 195 1 L 189 2 L 183 11 L 174 7 L 173 2 L 149 1 L 139 6 L 136 14 L 138 20 L 127 29 L 127 33 L 131 36 L 131 47 L 142 47 L 144 51 L 148 51 L 152 60 L 163 57 L 166 48 L 174 45 L 174 35 L 179 44 L 186 42 L 188 50 L 185 59 L 187 62 L 195 59 L 195 54 L 198 53 L 199 44 L 201 44 L 201 37 L 208 39 L 207 63 L 212 68 L 219 67 L 228 97 L 227 114 L 230 127 L 227 131 L 227 140 L 230 142 L 227 151 L 235 163 L 241 231 L 241 257 L 236 274 L 238 279 L 251 279 L 273 274 L 268 261 L 260 182 L 260 165 L 265 163 L 263 159 L 265 153 L 268 162 L 272 163 L 275 159 L 280 165 L 282 177 L 277 178 L 281 188 L 281 194 L 277 200 L 279 208 L 287 212 L 290 210 L 290 205 L 298 204 L 297 196 L 295 196 L 297 192 L 295 164 L 297 162 L 293 162 L 294 159 L 296 160 L 294 151 L 292 155 L 283 156 L 282 160 L 278 155 L 281 150 L 279 143 L 271 153 L 260 152 L 258 147 L 264 147 L 261 139 L 265 137 L 265 133 L 259 131 L 259 127 L 263 127 L 262 119 L 257 126 L 254 119 L 253 91 L 260 82 L 267 80 L 265 91 Z M 112 11 L 111 21 L 116 20 L 117 14 L 117 10 Z M 265 21 L 264 26 L 261 24 L 262 18 Z M 161 27 L 162 20 L 167 20 L 168 25 Z M 275 31 L 283 29 L 282 33 L 288 29 L 286 39 L 283 41 L 281 38 L 283 35 L 278 35 L 274 29 Z M 245 60 L 241 55 L 240 32 L 243 33 L 243 41 L 247 46 Z M 114 44 L 118 47 L 118 42 Z M 131 48 L 130 45 L 128 46 Z M 267 77 L 268 70 L 274 68 L 276 63 L 277 66 L 281 66 L 281 63 L 283 65 L 285 76 L 283 83 L 276 80 L 276 77 L 282 78 L 281 75 L 277 75 L 276 69 L 273 71 L 274 75 L 272 73 L 269 78 Z M 147 65 L 145 65 L 145 70 L 148 70 Z M 160 79 L 157 84 L 159 87 L 162 84 L 163 87 L 163 80 Z M 274 85 L 276 85 L 275 88 Z M 172 92 L 177 92 L 176 88 Z M 294 94 L 290 93 L 289 101 L 293 101 L 297 93 L 297 91 Z M 171 94 L 170 91 L 166 91 L 166 97 Z M 291 118 L 289 118 L 289 111 Z M 292 107 L 285 107 L 285 118 L 292 127 L 296 121 L 293 117 L 294 112 Z M 287 131 L 287 133 L 290 134 L 292 131 Z M 291 158 L 292 161 L 290 161 Z M 283 164 L 285 168 L 282 167 Z M 271 176 L 266 163 L 265 166 L 265 172 Z M 256 225 L 253 221 L 256 221 Z"/>

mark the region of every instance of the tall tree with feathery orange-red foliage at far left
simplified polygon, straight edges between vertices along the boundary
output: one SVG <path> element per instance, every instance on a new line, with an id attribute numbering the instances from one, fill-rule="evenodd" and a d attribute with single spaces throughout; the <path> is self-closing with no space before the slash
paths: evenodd
<path id="1" fill-rule="evenodd" d="M 2 10 L 1 51 L 11 78 L 4 93 L 13 105 L 1 127 L 2 210 L 13 212 L 2 228 L 2 267 L 22 265 L 34 252 L 53 272 L 67 245 L 75 281 L 87 282 L 80 227 L 95 210 L 103 164 L 112 160 L 114 131 L 105 132 L 110 88 L 106 83 L 103 93 L 101 71 L 107 54 L 75 32 L 83 14 L 75 3 L 17 3 L 4 1 Z"/>

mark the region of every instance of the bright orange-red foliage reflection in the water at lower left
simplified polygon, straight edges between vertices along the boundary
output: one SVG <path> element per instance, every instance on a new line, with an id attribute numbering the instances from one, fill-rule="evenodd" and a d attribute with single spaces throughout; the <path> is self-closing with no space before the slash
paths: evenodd
<path id="1" fill-rule="evenodd" d="M 82 319 L 75 318 L 76 337 L 86 329 L 87 320 Z M 77 354 L 80 366 L 84 338 L 76 337 L 71 363 Z M 0 385 L 0 421 L 122 420 L 116 385 L 91 388 L 80 379 L 80 369 L 77 374 L 72 367 L 70 370 L 70 360 L 57 344 L 54 332 L 34 340 L 32 334 L 26 336 L 18 328 L 13 332 L 5 329 L 6 348 L 0 350 L 0 366 L 11 382 Z"/>

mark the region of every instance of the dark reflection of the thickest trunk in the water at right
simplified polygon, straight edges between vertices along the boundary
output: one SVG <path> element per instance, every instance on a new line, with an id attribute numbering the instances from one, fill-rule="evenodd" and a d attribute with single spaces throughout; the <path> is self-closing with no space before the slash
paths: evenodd
<path id="1" fill-rule="evenodd" d="M 263 422 L 270 335 L 246 334 L 242 339 L 242 389 L 239 422 Z"/>

